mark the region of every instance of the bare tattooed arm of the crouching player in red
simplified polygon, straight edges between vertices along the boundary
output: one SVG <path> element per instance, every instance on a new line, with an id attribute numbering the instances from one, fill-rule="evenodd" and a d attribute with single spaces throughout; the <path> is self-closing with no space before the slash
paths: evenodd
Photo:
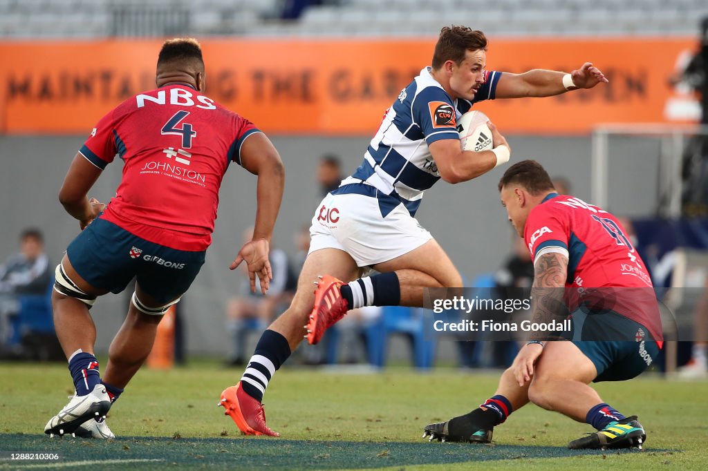
<path id="1" fill-rule="evenodd" d="M 532 322 L 561 322 L 569 312 L 564 301 L 564 286 L 568 277 L 568 257 L 547 253 L 535 261 L 532 295 Z M 543 338 L 540 338 L 543 337 Z M 557 337 L 556 337 L 557 338 Z M 547 335 L 532 336 L 535 340 L 550 339 Z"/>

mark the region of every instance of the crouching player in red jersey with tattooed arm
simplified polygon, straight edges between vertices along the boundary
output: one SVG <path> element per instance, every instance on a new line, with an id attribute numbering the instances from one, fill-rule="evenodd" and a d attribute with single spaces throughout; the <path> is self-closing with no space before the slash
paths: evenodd
<path id="1" fill-rule="evenodd" d="M 641 448 L 646 433 L 636 416 L 625 417 L 588 384 L 634 378 L 658 355 L 661 320 L 644 262 L 615 216 L 557 194 L 535 161 L 512 165 L 499 191 L 534 261 L 532 322 L 570 315 L 572 329 L 555 337 L 565 341 L 532 335 L 493 397 L 426 426 L 423 437 L 489 443 L 494 426 L 533 402 L 598 430 L 569 448 Z"/>

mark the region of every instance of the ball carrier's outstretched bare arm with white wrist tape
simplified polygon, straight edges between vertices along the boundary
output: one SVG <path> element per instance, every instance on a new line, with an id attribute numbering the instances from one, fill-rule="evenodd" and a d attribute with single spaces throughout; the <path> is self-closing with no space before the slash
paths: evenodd
<path id="1" fill-rule="evenodd" d="M 533 69 L 523 74 L 505 72 L 497 83 L 496 98 L 560 95 L 576 88 L 593 88 L 598 83 L 607 82 L 603 72 L 592 62 L 586 62 L 570 74 L 543 69 Z"/>

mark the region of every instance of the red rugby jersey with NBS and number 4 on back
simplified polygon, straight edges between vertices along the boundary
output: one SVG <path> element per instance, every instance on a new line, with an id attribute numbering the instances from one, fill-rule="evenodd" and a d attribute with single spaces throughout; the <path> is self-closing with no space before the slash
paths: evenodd
<path id="1" fill-rule="evenodd" d="M 108 112 L 81 154 L 98 168 L 118 155 L 122 180 L 102 218 L 135 236 L 178 250 L 205 250 L 219 187 L 241 164 L 249 120 L 188 85 L 139 93 Z"/>

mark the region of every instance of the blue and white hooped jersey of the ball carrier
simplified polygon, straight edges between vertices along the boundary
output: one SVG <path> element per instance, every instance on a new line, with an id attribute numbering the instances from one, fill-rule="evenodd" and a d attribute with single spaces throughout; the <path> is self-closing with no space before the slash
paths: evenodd
<path id="1" fill-rule="evenodd" d="M 364 162 L 333 194 L 384 197 L 389 204 L 379 204 L 383 216 L 393 209 L 391 199 L 385 197 L 393 197 L 397 200 L 394 206 L 401 202 L 414 216 L 423 192 L 440 180 L 428 145 L 440 139 L 459 139 L 459 117 L 474 103 L 495 98 L 502 73 L 485 71 L 484 74 L 484 85 L 474 100 L 452 100 L 430 75 L 430 67 L 421 70 L 387 110 L 364 154 Z"/>

